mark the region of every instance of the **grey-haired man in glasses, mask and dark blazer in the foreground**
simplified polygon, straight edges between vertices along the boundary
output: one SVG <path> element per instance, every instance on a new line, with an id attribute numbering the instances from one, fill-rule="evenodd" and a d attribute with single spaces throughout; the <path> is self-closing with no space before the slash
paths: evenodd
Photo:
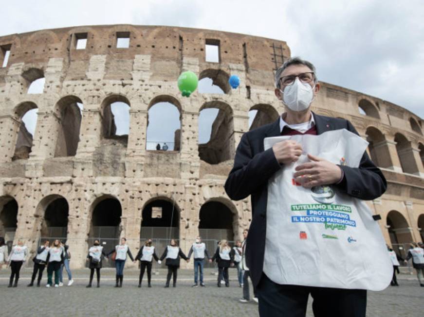
<path id="1" fill-rule="evenodd" d="M 356 133 L 348 120 L 319 116 L 311 111 L 313 98 L 319 91 L 315 67 L 300 58 L 288 60 L 276 72 L 275 94 L 285 106 L 285 112 L 274 123 L 244 133 L 237 148 L 234 167 L 225 183 L 232 200 L 251 195 L 252 222 L 246 242 L 246 260 L 252 281 L 258 288 L 260 316 L 305 316 L 309 294 L 313 297 L 313 313 L 319 317 L 365 317 L 366 290 L 334 289 L 300 285 L 281 285 L 263 272 L 268 179 L 282 165 L 298 160 L 301 145 L 286 140 L 264 150 L 266 137 L 294 134 L 321 134 L 347 129 Z M 361 200 L 380 197 L 387 188 L 386 179 L 367 152 L 358 168 L 334 165 L 312 155 L 310 163 L 296 167 L 295 181 L 311 188 L 332 185 Z M 284 233 L 281 233 L 284 239 Z M 293 246 L 295 248 L 295 246 Z"/>

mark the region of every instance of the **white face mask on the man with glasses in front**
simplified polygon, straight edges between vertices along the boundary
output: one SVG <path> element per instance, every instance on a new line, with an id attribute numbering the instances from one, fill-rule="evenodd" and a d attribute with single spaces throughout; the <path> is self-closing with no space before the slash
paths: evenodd
<path id="1" fill-rule="evenodd" d="M 297 77 L 292 85 L 280 92 L 283 94 L 281 101 L 292 111 L 308 109 L 313 100 L 313 87 L 309 83 L 302 83 Z"/>

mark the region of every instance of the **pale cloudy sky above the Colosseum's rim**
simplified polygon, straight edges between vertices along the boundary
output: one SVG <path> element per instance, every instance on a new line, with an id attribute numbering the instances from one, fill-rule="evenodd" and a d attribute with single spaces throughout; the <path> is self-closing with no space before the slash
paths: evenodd
<path id="1" fill-rule="evenodd" d="M 22 4 L 27 2 L 27 5 Z M 34 4 L 36 3 L 36 4 Z M 424 1 L 7 1 L 0 36 L 76 25 L 170 25 L 287 42 L 318 79 L 424 118 Z"/>

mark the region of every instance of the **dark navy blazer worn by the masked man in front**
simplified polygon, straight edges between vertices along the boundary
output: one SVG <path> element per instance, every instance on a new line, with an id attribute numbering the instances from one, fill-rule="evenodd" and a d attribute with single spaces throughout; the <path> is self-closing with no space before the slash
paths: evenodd
<path id="1" fill-rule="evenodd" d="M 358 134 L 348 120 L 316 114 L 313 117 L 317 134 L 338 129 Z M 253 215 L 247 236 L 246 264 L 255 285 L 258 285 L 262 275 L 265 252 L 268 179 L 281 168 L 272 148 L 263 150 L 263 139 L 278 135 L 279 118 L 274 123 L 244 133 L 237 148 L 234 167 L 225 182 L 225 191 L 232 200 L 242 200 L 251 195 Z M 342 192 L 358 199 L 372 200 L 386 191 L 386 179 L 371 162 L 367 152 L 362 156 L 358 168 L 341 168 L 344 178 L 335 186 Z"/>

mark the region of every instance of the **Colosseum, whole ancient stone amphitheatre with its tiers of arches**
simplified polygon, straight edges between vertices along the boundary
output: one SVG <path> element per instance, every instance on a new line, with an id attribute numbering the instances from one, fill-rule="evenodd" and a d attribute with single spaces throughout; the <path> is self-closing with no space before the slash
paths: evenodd
<path id="1" fill-rule="evenodd" d="M 221 238 L 240 239 L 250 200 L 231 201 L 223 184 L 241 135 L 283 112 L 273 76 L 291 55 L 285 42 L 110 25 L 11 34 L 0 48 L 0 236 L 9 245 L 23 239 L 34 253 L 45 239 L 66 240 L 78 268 L 93 238 L 111 249 L 125 236 L 132 253 L 147 237 L 159 252 L 171 237 L 184 252 L 199 234 L 210 252 Z M 185 70 L 215 93 L 182 97 L 177 78 Z M 231 75 L 240 77 L 237 89 Z M 349 119 L 368 140 L 388 181 L 369 206 L 387 243 L 403 253 L 424 236 L 423 120 L 389 101 L 321 85 L 313 111 Z M 164 104 L 175 125 L 153 113 Z M 114 105 L 127 114 L 126 133 L 118 132 Z M 200 143 L 209 109 L 217 115 Z M 35 119 L 25 124 L 28 114 Z M 153 125 L 172 138 L 152 135 Z"/>

